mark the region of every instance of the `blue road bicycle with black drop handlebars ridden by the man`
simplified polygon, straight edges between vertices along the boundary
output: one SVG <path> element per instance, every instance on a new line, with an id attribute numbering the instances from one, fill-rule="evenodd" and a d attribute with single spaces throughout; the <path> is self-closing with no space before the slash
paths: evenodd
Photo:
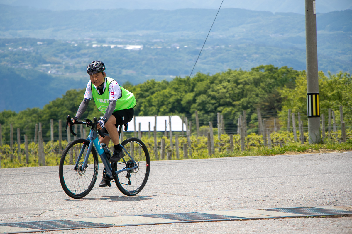
<path id="1" fill-rule="evenodd" d="M 66 129 L 70 123 L 70 132 L 73 131 L 71 117 L 67 116 Z M 138 138 L 128 138 L 124 140 L 122 150 L 125 151 L 123 161 L 109 162 L 102 145 L 100 137 L 109 136 L 101 133 L 97 128 L 97 119 L 93 122 L 84 119 L 83 122 L 75 121 L 75 124 L 83 124 L 90 128 L 87 139 L 79 138 L 71 141 L 64 149 L 59 164 L 60 183 L 67 195 L 71 198 L 83 198 L 94 187 L 98 176 L 98 156 L 104 165 L 103 177 L 116 183 L 121 193 L 131 196 L 139 193 L 145 186 L 150 171 L 149 152 L 142 140 Z M 127 124 L 125 131 L 127 131 Z M 122 125 L 119 126 L 118 133 L 121 134 Z"/>

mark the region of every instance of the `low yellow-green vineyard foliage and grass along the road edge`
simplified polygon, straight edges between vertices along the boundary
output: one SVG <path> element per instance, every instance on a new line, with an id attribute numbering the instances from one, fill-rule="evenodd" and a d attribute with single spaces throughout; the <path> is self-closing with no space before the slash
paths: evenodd
<path id="1" fill-rule="evenodd" d="M 298 133 L 297 133 L 298 135 Z M 348 138 L 351 138 L 352 131 L 346 133 Z M 352 150 L 352 141 L 348 140 L 344 143 L 337 143 L 341 138 L 341 132 L 338 131 L 335 134 L 330 135 L 325 139 L 322 144 L 308 144 L 307 133 L 304 134 L 306 142 L 301 145 L 294 141 L 293 133 L 279 132 L 271 133 L 272 148 L 263 146 L 263 138 L 257 134 L 249 134 L 245 138 L 245 151 L 241 151 L 240 147 L 240 136 L 233 135 L 234 150 L 230 150 L 229 136 L 222 134 L 220 140 L 214 135 L 214 148 L 215 154 L 209 155 L 207 148 L 207 137 L 195 135 L 190 137 L 191 148 L 188 148 L 188 158 L 200 159 L 200 158 L 218 158 L 218 157 L 233 157 L 233 156 L 251 156 L 251 155 L 281 155 L 281 154 L 295 154 L 295 153 L 317 153 L 326 151 L 346 151 Z M 161 160 L 160 145 L 161 137 L 157 138 L 158 145 L 158 157 L 153 151 L 154 139 L 148 138 L 146 136 L 142 137 L 142 141 L 145 143 L 151 160 Z M 188 143 L 187 138 L 184 136 L 178 137 L 178 146 L 175 145 L 175 138 L 173 139 L 173 150 L 172 158 L 176 158 L 176 147 L 178 147 L 180 157 L 179 159 L 185 159 L 183 157 L 183 144 Z M 279 142 L 282 142 L 282 147 L 279 146 Z M 67 146 L 67 141 L 62 141 L 62 148 Z M 24 143 L 20 145 L 21 151 L 18 153 L 17 142 L 14 143 L 12 151 L 9 145 L 0 146 L 0 159 L 1 168 L 13 168 L 13 167 L 37 167 L 38 166 L 38 144 L 31 142 L 29 144 L 29 164 L 26 164 L 25 159 L 25 145 Z M 165 139 L 165 152 L 171 149 L 170 140 Z M 190 156 L 190 149 L 192 156 Z M 13 160 L 11 161 L 11 154 Z M 59 165 L 61 151 L 59 151 L 58 141 L 49 141 L 44 143 L 44 154 L 45 154 L 45 164 L 46 166 Z M 18 157 L 19 156 L 19 157 Z M 20 158 L 20 160 L 19 160 Z M 100 159 L 99 159 L 100 160 Z M 166 153 L 165 153 L 166 160 Z"/>

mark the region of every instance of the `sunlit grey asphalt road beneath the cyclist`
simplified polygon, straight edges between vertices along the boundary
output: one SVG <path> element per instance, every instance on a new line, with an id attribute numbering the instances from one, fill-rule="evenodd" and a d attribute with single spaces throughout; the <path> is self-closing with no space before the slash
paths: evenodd
<path id="1" fill-rule="evenodd" d="M 99 165 L 99 175 L 103 166 Z M 112 187 L 71 199 L 58 166 L 0 169 L 0 222 L 279 207 L 352 207 L 352 152 L 152 161 L 136 196 Z M 175 223 L 49 233 L 352 233 L 352 217 Z"/>

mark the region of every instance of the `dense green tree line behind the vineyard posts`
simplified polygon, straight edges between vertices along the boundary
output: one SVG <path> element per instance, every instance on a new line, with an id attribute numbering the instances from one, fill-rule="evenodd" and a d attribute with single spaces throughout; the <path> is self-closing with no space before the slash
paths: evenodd
<path id="1" fill-rule="evenodd" d="M 135 115 L 182 115 L 194 121 L 194 113 L 197 111 L 201 126 L 213 122 L 216 127 L 219 112 L 227 116 L 227 134 L 237 131 L 237 120 L 243 111 L 247 113 L 248 128 L 254 132 L 258 126 L 257 108 L 261 109 L 262 118 L 278 117 L 282 123 L 287 121 L 288 109 L 306 115 L 306 73 L 288 67 L 261 65 L 249 71 L 228 69 L 214 75 L 197 73 L 192 77 L 176 77 L 171 81 L 147 80 L 138 85 L 125 82 L 122 86 L 136 96 Z M 325 76 L 320 72 L 319 86 L 321 112 L 327 113 L 327 109 L 332 108 L 336 110 L 338 119 L 339 106 L 351 106 L 351 75 L 340 72 Z M 58 120 L 61 119 L 64 123 L 67 115 L 76 114 L 84 91 L 85 89 L 70 89 L 62 98 L 51 101 L 42 109 L 27 108 L 18 113 L 11 110 L 0 112 L 3 142 L 10 139 L 10 123 L 14 129 L 20 128 L 21 134 L 33 139 L 35 124 L 42 122 L 43 138 L 50 139 L 50 119 L 54 119 L 57 134 Z M 351 126 L 351 112 L 351 108 L 344 108 L 346 126 Z M 93 119 L 101 115 L 92 100 L 82 119 Z M 45 129 L 48 129 L 47 132 Z"/>

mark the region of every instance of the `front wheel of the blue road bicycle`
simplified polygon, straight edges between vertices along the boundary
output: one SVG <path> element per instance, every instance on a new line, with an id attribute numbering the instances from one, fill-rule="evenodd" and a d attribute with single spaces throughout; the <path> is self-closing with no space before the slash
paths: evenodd
<path id="1" fill-rule="evenodd" d="M 67 145 L 62 152 L 59 165 L 61 186 L 67 195 L 75 199 L 83 198 L 92 190 L 98 175 L 98 156 L 94 147 L 90 152 L 86 168 L 74 169 L 82 146 L 85 148 L 78 166 L 82 165 L 89 146 L 89 141 L 83 138 L 73 140 Z"/>

